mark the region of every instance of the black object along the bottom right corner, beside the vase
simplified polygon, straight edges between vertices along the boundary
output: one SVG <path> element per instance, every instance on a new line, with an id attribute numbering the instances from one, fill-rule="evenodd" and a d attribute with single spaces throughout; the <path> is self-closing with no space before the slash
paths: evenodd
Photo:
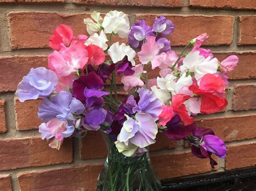
<path id="1" fill-rule="evenodd" d="M 193 178 L 161 182 L 163 190 L 256 190 L 256 168 L 243 168 Z"/>

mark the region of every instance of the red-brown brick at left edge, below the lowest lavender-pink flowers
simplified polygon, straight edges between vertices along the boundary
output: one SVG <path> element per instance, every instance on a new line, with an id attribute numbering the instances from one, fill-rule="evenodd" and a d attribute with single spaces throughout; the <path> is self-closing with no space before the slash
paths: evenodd
<path id="1" fill-rule="evenodd" d="M 39 137 L 0 140 L 0 171 L 72 162 L 71 139 L 65 139 L 59 151 L 48 144 Z"/>

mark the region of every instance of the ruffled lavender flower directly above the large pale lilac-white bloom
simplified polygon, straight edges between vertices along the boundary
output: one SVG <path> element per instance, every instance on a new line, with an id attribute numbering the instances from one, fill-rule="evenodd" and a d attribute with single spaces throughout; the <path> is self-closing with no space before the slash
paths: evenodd
<path id="1" fill-rule="evenodd" d="M 163 110 L 161 101 L 148 89 L 141 88 L 137 92 L 139 93 L 139 102 L 132 109 L 133 112 L 150 114 L 154 121 L 156 121 Z"/>

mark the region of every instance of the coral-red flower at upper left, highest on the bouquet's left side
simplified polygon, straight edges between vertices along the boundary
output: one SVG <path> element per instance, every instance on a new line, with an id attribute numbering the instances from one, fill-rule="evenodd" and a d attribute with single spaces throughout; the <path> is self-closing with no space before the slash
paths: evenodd
<path id="1" fill-rule="evenodd" d="M 59 51 L 59 49 L 62 47 L 61 44 L 69 47 L 74 39 L 75 36 L 70 26 L 59 25 L 50 36 L 49 45 L 52 49 Z"/>

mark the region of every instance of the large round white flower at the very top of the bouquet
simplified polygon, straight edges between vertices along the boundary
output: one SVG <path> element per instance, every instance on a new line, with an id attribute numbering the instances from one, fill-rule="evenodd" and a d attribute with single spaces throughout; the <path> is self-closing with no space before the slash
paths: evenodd
<path id="1" fill-rule="evenodd" d="M 118 34 L 120 38 L 126 38 L 130 33 L 129 18 L 122 11 L 110 11 L 103 19 L 102 26 L 105 33 Z"/>

